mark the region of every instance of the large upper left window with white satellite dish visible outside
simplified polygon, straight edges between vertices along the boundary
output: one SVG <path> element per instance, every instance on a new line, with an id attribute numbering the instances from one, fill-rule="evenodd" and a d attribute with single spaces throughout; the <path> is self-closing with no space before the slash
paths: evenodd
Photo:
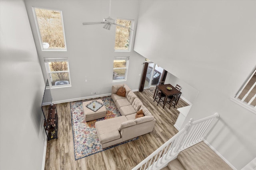
<path id="1" fill-rule="evenodd" d="M 44 51 L 66 51 L 62 12 L 33 8 L 41 48 Z"/>

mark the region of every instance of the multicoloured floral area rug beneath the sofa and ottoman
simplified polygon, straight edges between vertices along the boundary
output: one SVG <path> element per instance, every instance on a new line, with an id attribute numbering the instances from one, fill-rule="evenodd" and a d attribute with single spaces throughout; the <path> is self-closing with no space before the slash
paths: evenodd
<path id="1" fill-rule="evenodd" d="M 118 116 L 121 116 L 121 114 L 118 108 L 116 107 L 116 105 L 114 104 L 111 96 L 94 98 L 93 100 L 97 100 L 97 99 L 101 99 L 103 101 L 103 104 L 106 107 L 106 111 L 107 111 L 106 117 L 92 120 L 92 121 L 87 121 L 87 122 L 84 120 L 84 109 L 83 109 L 82 103 L 86 101 L 90 101 L 92 99 L 70 102 L 75 160 L 78 160 L 86 156 L 90 156 L 92 154 L 101 152 L 103 150 L 107 150 L 112 147 L 116 147 L 118 145 L 122 145 L 124 143 L 138 139 L 138 137 L 136 137 L 129 141 L 125 141 L 125 142 L 113 145 L 111 147 L 102 149 L 98 139 L 96 129 L 95 129 L 95 122 L 101 121 L 104 119 L 111 119 L 113 117 L 118 117 Z"/>

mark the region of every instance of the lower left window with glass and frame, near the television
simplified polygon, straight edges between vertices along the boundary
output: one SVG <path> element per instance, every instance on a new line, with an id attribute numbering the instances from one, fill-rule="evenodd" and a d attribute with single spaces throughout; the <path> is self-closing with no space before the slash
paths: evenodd
<path id="1" fill-rule="evenodd" d="M 50 87 L 71 86 L 68 58 L 44 58 Z"/>

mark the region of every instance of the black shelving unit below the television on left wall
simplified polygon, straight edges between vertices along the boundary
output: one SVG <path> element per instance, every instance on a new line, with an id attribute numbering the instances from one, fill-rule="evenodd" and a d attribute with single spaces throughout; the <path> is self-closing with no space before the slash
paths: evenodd
<path id="1" fill-rule="evenodd" d="M 54 104 L 48 108 L 47 119 L 44 121 L 44 130 L 48 141 L 58 139 L 58 113 Z"/>

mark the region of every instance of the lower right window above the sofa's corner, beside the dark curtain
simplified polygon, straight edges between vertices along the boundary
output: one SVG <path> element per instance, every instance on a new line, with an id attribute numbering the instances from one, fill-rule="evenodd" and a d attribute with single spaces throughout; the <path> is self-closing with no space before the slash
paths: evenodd
<path id="1" fill-rule="evenodd" d="M 114 57 L 113 81 L 126 80 L 129 57 Z"/>

